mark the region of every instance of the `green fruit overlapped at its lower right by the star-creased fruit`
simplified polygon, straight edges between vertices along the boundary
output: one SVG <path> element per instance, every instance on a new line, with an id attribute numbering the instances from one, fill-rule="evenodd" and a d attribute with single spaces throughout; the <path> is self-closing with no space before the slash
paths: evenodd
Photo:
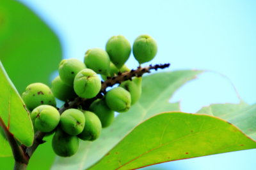
<path id="1" fill-rule="evenodd" d="M 77 59 L 64 59 L 61 60 L 59 66 L 59 74 L 61 80 L 72 87 L 76 74 L 85 69 L 84 63 Z"/>

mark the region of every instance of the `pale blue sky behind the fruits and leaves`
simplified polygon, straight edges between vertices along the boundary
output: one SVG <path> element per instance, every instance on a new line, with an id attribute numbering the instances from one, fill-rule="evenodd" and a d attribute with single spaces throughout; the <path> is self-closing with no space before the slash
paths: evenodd
<path id="1" fill-rule="evenodd" d="M 149 34 L 159 46 L 150 63 L 170 62 L 169 70 L 207 69 L 224 74 L 244 101 L 256 103 L 256 1 L 20 1 L 58 34 L 65 58 L 83 60 L 86 50 L 104 48 L 113 35 L 123 34 L 132 43 L 140 34 Z M 127 65 L 138 64 L 132 58 Z M 211 103 L 237 102 L 230 81 L 213 72 L 202 74 L 171 101 L 181 101 L 187 112 Z M 251 170 L 256 169 L 255 160 L 256 150 L 247 150 L 150 168 Z"/>

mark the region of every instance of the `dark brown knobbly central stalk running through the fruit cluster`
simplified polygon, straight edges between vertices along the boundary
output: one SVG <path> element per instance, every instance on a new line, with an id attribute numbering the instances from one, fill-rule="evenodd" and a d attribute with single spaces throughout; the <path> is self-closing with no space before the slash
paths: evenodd
<path id="1" fill-rule="evenodd" d="M 150 65 L 148 67 L 138 67 L 135 70 L 132 69 L 131 71 L 127 71 L 124 73 L 118 73 L 117 76 L 113 76 L 111 78 L 108 78 L 108 80 L 106 80 L 106 81 L 102 81 L 100 92 L 93 99 L 84 99 L 81 97 L 76 97 L 76 99 L 74 99 L 74 101 L 65 103 L 63 105 L 63 107 L 61 107 L 59 110 L 60 115 L 65 110 L 68 110 L 70 108 L 77 108 L 78 106 L 81 106 L 83 104 L 88 104 L 88 103 L 90 104 L 93 101 L 95 101 L 96 99 L 101 98 L 103 96 L 103 94 L 106 92 L 107 87 L 112 87 L 113 85 L 115 85 L 117 83 L 122 83 L 123 81 L 126 81 L 126 80 L 132 80 L 132 77 L 135 77 L 135 76 L 140 77 L 145 73 L 150 73 L 150 70 L 152 70 L 152 69 L 155 69 L 157 71 L 157 69 L 164 69 L 169 66 L 170 66 L 170 64 L 156 64 L 154 66 Z M 29 158 L 35 152 L 38 145 L 44 143 L 44 141 L 43 141 L 44 136 L 45 136 L 45 133 L 40 132 L 40 131 L 36 132 L 33 145 L 26 148 L 26 153 L 29 156 Z"/>

